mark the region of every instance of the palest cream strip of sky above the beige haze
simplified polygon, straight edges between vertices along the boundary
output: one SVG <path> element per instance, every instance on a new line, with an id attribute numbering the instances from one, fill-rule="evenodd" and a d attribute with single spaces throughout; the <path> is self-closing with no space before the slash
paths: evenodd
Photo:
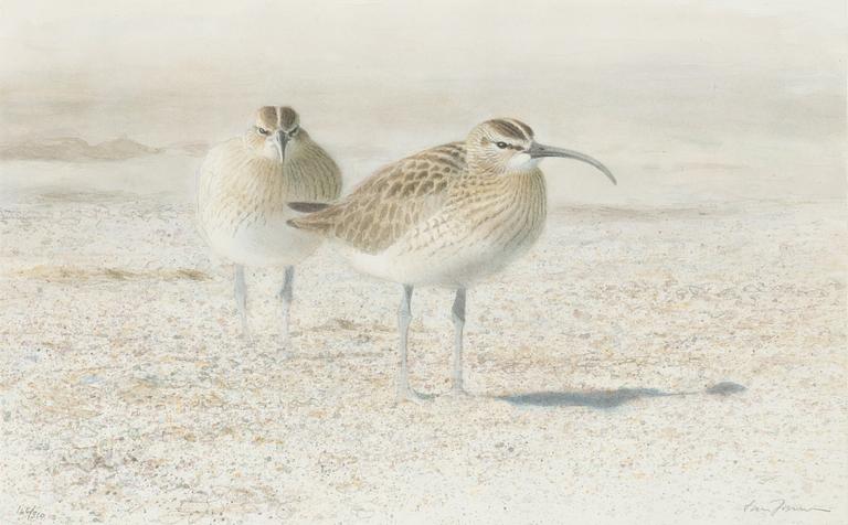
<path id="1" fill-rule="evenodd" d="M 0 78 L 7 89 L 53 78 L 134 90 L 556 78 L 592 67 L 801 77 L 845 67 L 845 12 L 838 0 L 2 0 Z"/>

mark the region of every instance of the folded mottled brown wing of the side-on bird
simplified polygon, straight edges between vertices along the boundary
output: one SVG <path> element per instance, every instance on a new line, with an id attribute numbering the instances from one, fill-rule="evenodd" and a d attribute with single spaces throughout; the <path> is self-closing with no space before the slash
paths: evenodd
<path id="1" fill-rule="evenodd" d="M 452 179 L 466 172 L 462 142 L 432 148 L 390 164 L 338 204 L 289 224 L 378 254 L 436 213 Z"/>

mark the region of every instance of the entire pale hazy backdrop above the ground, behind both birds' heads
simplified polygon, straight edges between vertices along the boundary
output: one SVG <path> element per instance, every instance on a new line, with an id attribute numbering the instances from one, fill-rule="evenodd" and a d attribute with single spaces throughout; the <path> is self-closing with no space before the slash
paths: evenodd
<path id="1" fill-rule="evenodd" d="M 0 142 L 214 142 L 289 104 L 356 180 L 515 116 L 651 181 L 623 195 L 833 195 L 846 20 L 844 0 L 0 0 Z"/>

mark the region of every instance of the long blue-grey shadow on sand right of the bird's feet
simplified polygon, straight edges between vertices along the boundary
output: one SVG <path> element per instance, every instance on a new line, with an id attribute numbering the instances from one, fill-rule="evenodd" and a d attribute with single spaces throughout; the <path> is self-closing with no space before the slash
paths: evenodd
<path id="1" fill-rule="evenodd" d="M 615 408 L 624 404 L 646 397 L 682 397 L 706 394 L 711 396 L 729 396 L 744 392 L 746 388 L 738 383 L 721 382 L 701 392 L 662 392 L 657 388 L 617 388 L 614 390 L 585 392 L 532 392 L 497 396 L 512 405 L 524 407 L 590 407 L 598 409 Z"/>

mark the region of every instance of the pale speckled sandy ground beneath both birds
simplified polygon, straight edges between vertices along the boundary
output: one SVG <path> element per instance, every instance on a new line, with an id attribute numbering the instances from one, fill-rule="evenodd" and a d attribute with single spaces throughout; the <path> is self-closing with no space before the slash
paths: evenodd
<path id="1" fill-rule="evenodd" d="M 186 203 L 24 195 L 0 523 L 846 523 L 845 226 L 838 201 L 558 206 L 470 292 L 473 398 L 446 395 L 451 292 L 416 292 L 418 406 L 394 401 L 400 291 L 331 249 L 285 353 L 282 276 L 251 276 L 240 340 Z"/>

